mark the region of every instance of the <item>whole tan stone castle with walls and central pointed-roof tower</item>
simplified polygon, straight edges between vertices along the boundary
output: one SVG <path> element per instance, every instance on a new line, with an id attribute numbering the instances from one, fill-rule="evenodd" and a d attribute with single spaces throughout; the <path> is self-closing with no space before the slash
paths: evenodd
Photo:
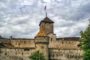
<path id="1" fill-rule="evenodd" d="M 80 38 L 57 38 L 53 25 L 54 22 L 45 17 L 40 22 L 39 32 L 34 39 L 0 37 L 0 57 L 20 57 L 22 60 L 30 60 L 28 57 L 39 50 L 46 60 L 83 60 Z"/>

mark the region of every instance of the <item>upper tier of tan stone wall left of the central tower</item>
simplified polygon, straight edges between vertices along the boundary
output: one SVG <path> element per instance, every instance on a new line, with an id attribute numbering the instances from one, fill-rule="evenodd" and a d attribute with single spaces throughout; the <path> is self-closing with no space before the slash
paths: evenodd
<path id="1" fill-rule="evenodd" d="M 10 40 L 11 44 L 17 48 L 34 48 L 34 40 Z"/>

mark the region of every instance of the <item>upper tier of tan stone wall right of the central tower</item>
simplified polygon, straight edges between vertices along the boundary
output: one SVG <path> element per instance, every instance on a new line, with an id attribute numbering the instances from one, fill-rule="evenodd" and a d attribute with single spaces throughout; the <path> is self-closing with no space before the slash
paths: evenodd
<path id="1" fill-rule="evenodd" d="M 49 43 L 49 48 L 59 48 L 59 49 L 80 49 L 79 41 L 67 41 L 67 40 L 59 40 L 59 41 L 51 41 Z"/>

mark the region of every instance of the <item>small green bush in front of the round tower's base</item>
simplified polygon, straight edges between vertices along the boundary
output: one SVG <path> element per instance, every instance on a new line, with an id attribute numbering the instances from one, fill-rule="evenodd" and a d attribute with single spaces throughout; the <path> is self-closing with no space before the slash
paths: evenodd
<path id="1" fill-rule="evenodd" d="M 31 60 L 45 60 L 43 53 L 39 51 L 34 52 L 29 58 Z"/>

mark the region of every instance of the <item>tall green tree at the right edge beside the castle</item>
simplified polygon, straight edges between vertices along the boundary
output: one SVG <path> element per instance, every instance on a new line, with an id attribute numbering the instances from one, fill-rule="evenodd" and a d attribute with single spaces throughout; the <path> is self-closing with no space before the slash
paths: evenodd
<path id="1" fill-rule="evenodd" d="M 90 60 L 90 22 L 85 31 L 81 32 L 81 48 L 84 51 L 84 60 Z"/>

